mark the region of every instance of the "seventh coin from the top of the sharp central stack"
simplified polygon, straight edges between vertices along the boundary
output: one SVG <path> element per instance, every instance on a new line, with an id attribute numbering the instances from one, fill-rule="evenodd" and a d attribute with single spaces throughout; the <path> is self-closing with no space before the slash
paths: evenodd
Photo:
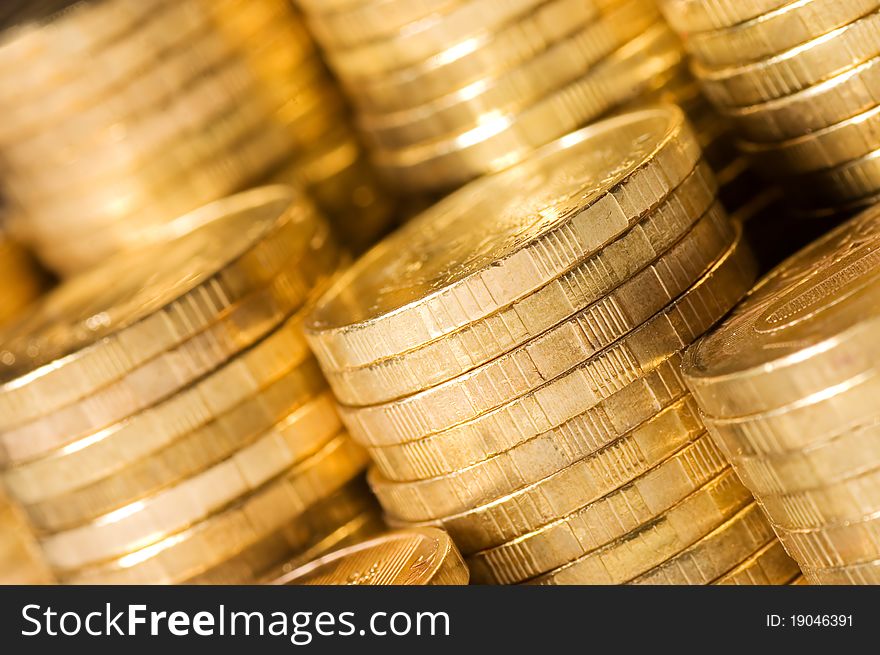
<path id="1" fill-rule="evenodd" d="M 477 583 L 514 584 L 593 551 L 682 502 L 727 466 L 708 436 L 575 512 L 467 558 Z"/>

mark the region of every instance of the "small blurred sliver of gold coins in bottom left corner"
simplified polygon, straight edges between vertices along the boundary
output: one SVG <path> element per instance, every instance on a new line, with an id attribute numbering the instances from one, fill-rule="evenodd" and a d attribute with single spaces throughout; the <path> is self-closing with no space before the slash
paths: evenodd
<path id="1" fill-rule="evenodd" d="M 42 560 L 30 527 L 0 493 L 0 585 L 50 582 L 52 575 Z"/>

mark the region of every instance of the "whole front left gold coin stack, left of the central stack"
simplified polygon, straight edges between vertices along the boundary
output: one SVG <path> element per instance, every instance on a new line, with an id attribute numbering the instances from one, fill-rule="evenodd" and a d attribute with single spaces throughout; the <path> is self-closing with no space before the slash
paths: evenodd
<path id="1" fill-rule="evenodd" d="M 301 335 L 341 263 L 329 226 L 270 186 L 164 234 L 0 333 L 3 481 L 47 563 L 73 583 L 248 582 L 370 534 L 366 455 Z"/>

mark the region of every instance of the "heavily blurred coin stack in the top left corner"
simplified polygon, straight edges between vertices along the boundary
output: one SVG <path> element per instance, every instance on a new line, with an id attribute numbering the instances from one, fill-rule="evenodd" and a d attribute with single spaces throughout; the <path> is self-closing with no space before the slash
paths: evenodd
<path id="1" fill-rule="evenodd" d="M 0 42 L 0 159 L 16 233 L 61 273 L 270 176 L 358 244 L 387 199 L 285 0 L 18 2 Z M 293 173 L 290 172 L 292 169 Z"/>

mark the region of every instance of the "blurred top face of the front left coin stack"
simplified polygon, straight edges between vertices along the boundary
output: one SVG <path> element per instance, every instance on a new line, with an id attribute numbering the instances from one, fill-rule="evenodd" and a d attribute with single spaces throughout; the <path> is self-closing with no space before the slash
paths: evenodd
<path id="1" fill-rule="evenodd" d="M 266 187 L 207 205 L 169 226 L 169 236 L 180 238 L 114 257 L 61 285 L 0 334 L 0 384 L 71 355 L 194 289 L 277 226 L 293 194 Z"/>

